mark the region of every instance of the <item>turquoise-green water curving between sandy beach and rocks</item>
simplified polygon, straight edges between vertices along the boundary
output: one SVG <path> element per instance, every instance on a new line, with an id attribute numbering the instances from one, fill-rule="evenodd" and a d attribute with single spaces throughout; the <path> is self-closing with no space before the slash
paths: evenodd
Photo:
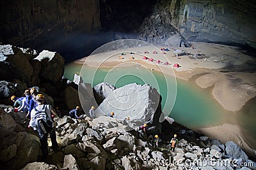
<path id="1" fill-rule="evenodd" d="M 82 64 L 68 64 L 65 66 L 64 76 L 69 80 L 74 79 L 74 73 L 79 73 Z M 115 87 L 122 87 L 129 83 L 145 84 L 155 87 L 157 92 L 163 97 L 161 105 L 170 110 L 169 117 L 174 118 L 179 124 L 186 125 L 191 129 L 199 127 L 211 127 L 220 125 L 227 121 L 230 114 L 234 117 L 234 113 L 225 111 L 221 108 L 210 95 L 209 90 L 201 89 L 189 81 L 177 80 L 177 96 L 174 105 L 166 102 L 166 97 L 175 96 L 175 90 L 172 86 L 176 86 L 175 78 L 166 76 L 157 71 L 148 71 L 136 66 L 118 67 L 114 69 L 86 67 L 81 71 L 84 83 L 91 83 L 93 87 L 98 83 L 108 82 Z M 93 79 L 93 80 L 92 80 Z M 154 79 L 154 80 L 153 80 Z M 167 84 L 169 85 L 167 87 Z M 172 108 L 173 106 L 173 108 Z"/>

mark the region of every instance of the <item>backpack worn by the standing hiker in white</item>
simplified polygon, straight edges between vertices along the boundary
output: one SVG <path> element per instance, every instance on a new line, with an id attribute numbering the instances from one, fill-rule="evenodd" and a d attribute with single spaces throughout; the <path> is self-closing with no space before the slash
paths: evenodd
<path id="1" fill-rule="evenodd" d="M 46 104 L 44 104 L 40 111 L 35 108 L 35 118 L 37 120 L 37 129 L 39 134 L 47 134 L 52 131 L 52 121 L 51 118 L 48 117 L 45 108 Z"/>

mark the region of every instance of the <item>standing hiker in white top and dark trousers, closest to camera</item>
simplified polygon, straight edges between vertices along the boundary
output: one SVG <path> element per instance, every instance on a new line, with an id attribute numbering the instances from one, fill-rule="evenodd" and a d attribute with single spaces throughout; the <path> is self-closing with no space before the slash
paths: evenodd
<path id="1" fill-rule="evenodd" d="M 56 141 L 56 132 L 52 124 L 51 113 L 56 115 L 49 104 L 44 104 L 44 95 L 36 95 L 37 106 L 31 111 L 31 118 L 28 127 L 33 127 L 39 134 L 42 158 L 45 160 L 48 156 L 48 144 L 47 138 L 48 133 L 50 134 L 52 149 L 58 148 L 58 143 Z"/>

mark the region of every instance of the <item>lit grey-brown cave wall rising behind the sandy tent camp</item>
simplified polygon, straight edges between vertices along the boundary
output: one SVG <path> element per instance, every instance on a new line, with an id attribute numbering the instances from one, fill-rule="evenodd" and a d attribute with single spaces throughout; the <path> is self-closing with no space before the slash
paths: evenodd
<path id="1" fill-rule="evenodd" d="M 141 37 L 152 42 L 166 40 L 173 35 L 173 26 L 188 41 L 239 43 L 256 48 L 255 4 L 252 0 L 159 1 L 145 19 Z"/>

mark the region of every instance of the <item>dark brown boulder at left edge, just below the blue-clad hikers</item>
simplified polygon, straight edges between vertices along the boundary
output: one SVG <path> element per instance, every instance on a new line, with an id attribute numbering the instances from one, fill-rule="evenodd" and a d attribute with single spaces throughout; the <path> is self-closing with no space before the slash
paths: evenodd
<path id="1" fill-rule="evenodd" d="M 3 109 L 0 109 L 0 127 L 1 131 L 9 130 L 13 131 L 16 127 L 16 123 L 13 118 L 6 113 Z"/>

